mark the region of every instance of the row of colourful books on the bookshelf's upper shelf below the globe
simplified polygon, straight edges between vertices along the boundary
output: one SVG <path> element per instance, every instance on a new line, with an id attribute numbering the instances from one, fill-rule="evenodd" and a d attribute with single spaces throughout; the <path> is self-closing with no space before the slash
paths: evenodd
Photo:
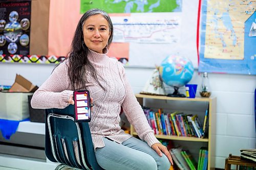
<path id="1" fill-rule="evenodd" d="M 148 124 L 155 134 L 193 136 L 199 138 L 208 137 L 208 109 L 205 111 L 204 122 L 198 115 L 184 114 L 183 112 L 163 113 L 150 108 L 143 108 Z"/>

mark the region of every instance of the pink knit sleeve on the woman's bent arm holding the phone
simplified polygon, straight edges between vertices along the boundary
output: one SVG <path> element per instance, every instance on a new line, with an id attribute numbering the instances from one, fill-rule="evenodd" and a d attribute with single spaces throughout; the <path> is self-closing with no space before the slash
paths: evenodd
<path id="1" fill-rule="evenodd" d="M 67 60 L 57 66 L 51 76 L 35 91 L 31 106 L 35 109 L 65 108 L 69 105 L 69 96 L 73 91 L 67 90 L 69 79 Z"/>

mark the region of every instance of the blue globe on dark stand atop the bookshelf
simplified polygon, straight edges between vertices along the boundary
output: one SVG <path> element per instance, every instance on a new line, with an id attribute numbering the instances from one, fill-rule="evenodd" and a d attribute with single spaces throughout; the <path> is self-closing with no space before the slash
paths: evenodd
<path id="1" fill-rule="evenodd" d="M 186 57 L 170 55 L 162 61 L 159 72 L 162 81 L 174 87 L 174 93 L 167 96 L 185 98 L 185 95 L 178 90 L 192 79 L 194 74 L 192 62 Z"/>

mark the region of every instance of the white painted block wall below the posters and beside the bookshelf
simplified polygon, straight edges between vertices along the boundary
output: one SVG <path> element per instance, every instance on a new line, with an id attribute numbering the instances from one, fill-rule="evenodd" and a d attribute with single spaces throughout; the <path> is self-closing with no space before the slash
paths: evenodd
<path id="1" fill-rule="evenodd" d="M 54 65 L 0 63 L 0 85 L 12 85 L 16 74 L 40 86 L 51 74 Z M 139 93 L 152 74 L 152 68 L 126 67 L 126 74 L 134 93 Z M 217 97 L 216 167 L 224 168 L 225 158 L 240 149 L 255 149 L 254 90 L 256 76 L 209 74 L 212 96 Z M 201 84 L 195 71 L 189 82 Z M 184 88 L 180 89 L 181 92 Z M 172 91 L 172 90 L 170 90 Z M 199 96 L 199 94 L 197 93 Z"/>

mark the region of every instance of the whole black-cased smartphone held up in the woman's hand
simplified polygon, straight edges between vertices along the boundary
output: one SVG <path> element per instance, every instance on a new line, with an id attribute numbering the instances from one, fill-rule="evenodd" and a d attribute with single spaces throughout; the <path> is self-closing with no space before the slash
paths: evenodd
<path id="1" fill-rule="evenodd" d="M 90 122 L 91 121 L 91 103 L 90 92 L 88 90 L 74 91 L 74 112 L 75 122 Z"/>

